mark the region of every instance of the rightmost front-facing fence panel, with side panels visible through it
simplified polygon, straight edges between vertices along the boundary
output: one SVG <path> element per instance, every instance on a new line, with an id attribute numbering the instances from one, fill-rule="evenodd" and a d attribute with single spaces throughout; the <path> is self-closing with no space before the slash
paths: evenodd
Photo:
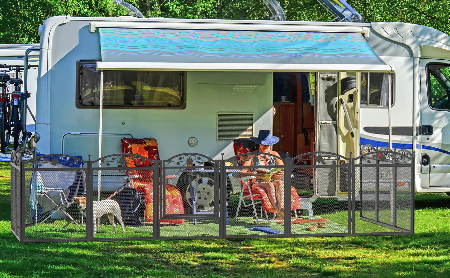
<path id="1" fill-rule="evenodd" d="M 414 234 L 414 155 L 364 146 L 353 159 L 352 234 Z"/>

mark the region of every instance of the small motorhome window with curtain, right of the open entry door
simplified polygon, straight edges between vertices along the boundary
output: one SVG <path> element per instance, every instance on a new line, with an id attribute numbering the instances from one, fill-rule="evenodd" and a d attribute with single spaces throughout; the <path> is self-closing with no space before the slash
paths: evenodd
<path id="1" fill-rule="evenodd" d="M 392 73 L 361 73 L 361 105 L 388 106 L 388 75 L 391 75 L 391 105 L 394 103 L 394 76 Z M 369 92 L 369 93 L 368 93 Z"/>

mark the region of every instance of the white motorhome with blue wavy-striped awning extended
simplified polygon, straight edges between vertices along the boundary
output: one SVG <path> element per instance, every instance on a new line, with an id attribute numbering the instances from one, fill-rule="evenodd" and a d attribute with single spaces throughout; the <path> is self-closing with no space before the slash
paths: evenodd
<path id="1" fill-rule="evenodd" d="M 97 159 L 153 137 L 161 159 L 227 158 L 269 129 L 291 156 L 410 150 L 415 191 L 450 192 L 450 37 L 433 28 L 57 16 L 39 32 L 39 153 Z"/>

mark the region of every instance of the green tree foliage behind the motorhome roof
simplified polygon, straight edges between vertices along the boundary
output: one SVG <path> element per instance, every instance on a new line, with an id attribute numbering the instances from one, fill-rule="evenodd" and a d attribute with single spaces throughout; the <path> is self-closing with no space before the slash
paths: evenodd
<path id="1" fill-rule="evenodd" d="M 269 19 L 262 0 L 127 0 L 145 17 Z M 450 0 L 348 0 L 366 22 L 410 22 L 450 34 Z M 288 20 L 329 21 L 317 0 L 279 0 Z M 0 0 L 0 43 L 37 43 L 38 26 L 56 15 L 115 17 L 112 0 Z"/>

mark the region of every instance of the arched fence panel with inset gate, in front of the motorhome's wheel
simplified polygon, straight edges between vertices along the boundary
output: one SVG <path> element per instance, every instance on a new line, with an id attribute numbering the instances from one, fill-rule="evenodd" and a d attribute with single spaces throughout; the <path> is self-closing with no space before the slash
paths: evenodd
<path id="1" fill-rule="evenodd" d="M 158 238 L 219 238 L 219 161 L 184 153 L 161 168 Z"/>

